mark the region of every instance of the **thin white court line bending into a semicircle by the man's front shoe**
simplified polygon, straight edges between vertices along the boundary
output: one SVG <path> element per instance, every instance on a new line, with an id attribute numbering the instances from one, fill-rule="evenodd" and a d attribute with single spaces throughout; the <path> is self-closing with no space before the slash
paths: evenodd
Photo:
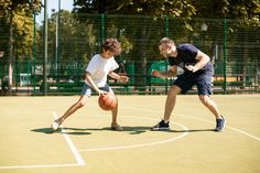
<path id="1" fill-rule="evenodd" d="M 121 116 L 121 117 L 130 117 L 130 118 L 137 118 L 137 119 L 152 119 L 154 120 L 155 118 L 144 118 L 144 117 L 134 117 L 134 116 Z M 162 140 L 162 141 L 158 141 L 158 142 L 150 142 L 150 143 L 140 143 L 140 144 L 131 144 L 131 145 L 117 145 L 117 147 L 108 147 L 108 148 L 96 148 L 96 149 L 82 149 L 78 150 L 80 152 L 89 152 L 89 151 L 107 151 L 107 150 L 122 150 L 122 149 L 133 149 L 133 148 L 142 148 L 142 147 L 150 147 L 150 145 L 156 145 L 156 144 L 163 144 L 166 142 L 171 142 L 171 141 L 175 141 L 177 139 L 184 138 L 185 136 L 188 134 L 188 128 L 185 127 L 184 125 L 181 123 L 176 123 L 174 122 L 174 125 L 177 125 L 180 127 L 182 127 L 184 129 L 184 132 L 181 136 L 167 139 L 167 140 Z"/>

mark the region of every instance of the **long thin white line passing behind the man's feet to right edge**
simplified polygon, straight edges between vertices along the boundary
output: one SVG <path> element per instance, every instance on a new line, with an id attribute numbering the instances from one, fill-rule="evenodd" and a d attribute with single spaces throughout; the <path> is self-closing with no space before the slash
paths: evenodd
<path id="1" fill-rule="evenodd" d="M 127 109 L 133 109 L 133 110 L 142 110 L 142 111 L 162 113 L 161 111 L 148 110 L 148 109 L 143 109 L 143 108 L 131 108 L 131 107 L 124 107 L 124 108 L 127 108 Z M 178 117 L 186 117 L 186 118 L 189 118 L 189 119 L 195 119 L 195 120 L 199 120 L 199 121 L 204 121 L 204 122 L 209 122 L 209 123 L 214 123 L 214 125 L 216 123 L 216 122 L 214 122 L 214 121 L 208 121 L 208 120 L 201 119 L 201 118 L 194 118 L 194 117 L 191 117 L 191 116 L 183 116 L 183 115 L 176 115 L 176 116 L 178 116 Z M 257 140 L 257 141 L 260 141 L 260 138 L 259 138 L 259 137 L 256 137 L 256 136 L 253 136 L 253 134 L 250 134 L 250 133 L 248 133 L 248 132 L 246 132 L 246 131 L 243 131 L 243 130 L 240 130 L 240 129 L 237 129 L 237 128 L 234 128 L 234 127 L 230 127 L 230 126 L 226 126 L 226 128 L 227 128 L 227 129 L 230 129 L 230 130 L 234 130 L 234 131 L 237 131 L 237 132 L 239 132 L 239 133 L 241 133 L 241 134 L 243 134 L 243 136 L 247 136 L 247 137 L 249 137 L 249 138 L 252 138 L 252 139 L 254 139 L 254 140 Z"/>

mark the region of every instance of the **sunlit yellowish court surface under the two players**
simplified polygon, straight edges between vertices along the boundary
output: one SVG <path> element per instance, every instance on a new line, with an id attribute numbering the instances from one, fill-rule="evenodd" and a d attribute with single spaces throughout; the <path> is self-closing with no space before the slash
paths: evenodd
<path id="1" fill-rule="evenodd" d="M 119 123 L 97 96 L 52 133 L 78 97 L 1 97 L 0 173 L 259 173 L 260 95 L 212 96 L 227 120 L 215 118 L 197 96 L 178 96 L 171 131 L 151 131 L 166 96 L 118 96 Z"/>

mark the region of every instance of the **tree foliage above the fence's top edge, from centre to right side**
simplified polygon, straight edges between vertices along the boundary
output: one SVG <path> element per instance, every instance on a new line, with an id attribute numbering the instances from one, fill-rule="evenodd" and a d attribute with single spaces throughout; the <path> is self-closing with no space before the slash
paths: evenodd
<path id="1" fill-rule="evenodd" d="M 259 0 L 77 0 L 74 12 L 240 19 L 259 25 Z"/>

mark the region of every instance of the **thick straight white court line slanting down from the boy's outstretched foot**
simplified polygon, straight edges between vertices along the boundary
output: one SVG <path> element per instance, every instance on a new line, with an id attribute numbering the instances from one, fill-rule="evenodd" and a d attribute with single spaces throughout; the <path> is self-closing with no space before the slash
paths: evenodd
<path id="1" fill-rule="evenodd" d="M 54 116 L 55 119 L 58 118 L 58 116 L 57 116 L 57 113 L 56 113 L 55 111 L 53 111 L 53 116 Z M 78 165 L 85 165 L 86 163 L 85 163 L 84 159 L 83 159 L 82 155 L 79 154 L 78 150 L 76 149 L 75 144 L 73 143 L 73 141 L 71 140 L 71 138 L 68 137 L 68 134 L 66 134 L 66 130 L 63 129 L 62 126 L 59 126 L 59 128 L 61 128 L 61 131 L 62 131 L 62 133 L 63 133 L 63 137 L 65 138 L 65 140 L 66 140 L 66 142 L 67 142 L 69 149 L 72 150 L 73 155 L 74 155 L 74 158 L 76 159 Z"/>

